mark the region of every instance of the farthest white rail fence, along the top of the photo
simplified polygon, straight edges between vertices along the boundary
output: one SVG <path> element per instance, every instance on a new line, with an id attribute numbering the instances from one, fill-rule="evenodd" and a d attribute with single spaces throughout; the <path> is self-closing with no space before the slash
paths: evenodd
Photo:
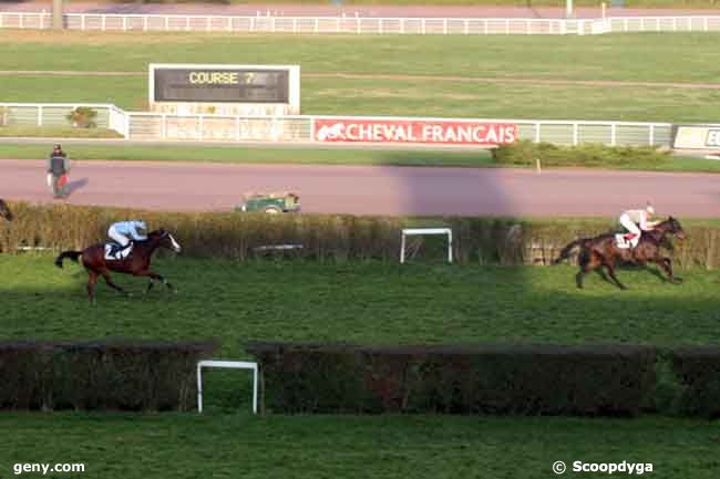
<path id="1" fill-rule="evenodd" d="M 229 17 L 178 14 L 66 13 L 71 30 L 205 31 L 238 33 L 357 34 L 599 34 L 642 31 L 720 31 L 718 17 L 606 19 L 459 19 L 366 17 Z M 49 29 L 51 13 L 0 12 L 0 28 Z"/>

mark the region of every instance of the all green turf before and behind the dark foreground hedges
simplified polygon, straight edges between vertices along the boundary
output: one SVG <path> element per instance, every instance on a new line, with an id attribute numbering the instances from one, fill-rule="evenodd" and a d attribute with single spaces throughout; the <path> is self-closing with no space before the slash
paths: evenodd
<path id="1" fill-rule="evenodd" d="M 676 287 L 621 271 L 620 292 L 574 269 L 433 263 L 245 263 L 166 258 L 157 270 L 179 292 L 142 296 L 143 280 L 116 275 L 125 299 L 52 256 L 0 254 L 4 339 L 220 340 L 216 357 L 246 357 L 248 340 L 357 343 L 717 343 L 720 272 L 682 272 Z M 249 409 L 249 377 L 206 373 L 207 414 L 0 415 L 0 476 L 19 462 L 84 462 L 63 478 L 527 478 L 551 466 L 650 462 L 651 477 L 711 479 L 717 425 L 637 419 L 266 416 Z M 647 473 L 647 472 L 646 472 Z M 578 475 L 566 477 L 606 477 Z M 25 475 L 24 477 L 40 477 Z"/>

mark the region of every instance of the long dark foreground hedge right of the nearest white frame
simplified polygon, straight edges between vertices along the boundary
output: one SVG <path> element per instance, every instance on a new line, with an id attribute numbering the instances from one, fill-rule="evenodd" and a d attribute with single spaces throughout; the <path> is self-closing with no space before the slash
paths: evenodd
<path id="1" fill-rule="evenodd" d="M 655 386 L 640 346 L 361 347 L 251 343 L 276 413 L 635 416 Z"/>

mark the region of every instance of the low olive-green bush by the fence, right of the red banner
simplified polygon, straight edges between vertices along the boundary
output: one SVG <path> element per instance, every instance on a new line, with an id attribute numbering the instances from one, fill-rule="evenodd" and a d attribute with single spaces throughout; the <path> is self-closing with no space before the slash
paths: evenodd
<path id="1" fill-rule="evenodd" d="M 601 144 L 558 146 L 527 139 L 493 149 L 493 158 L 496 163 L 523 166 L 535 166 L 537 159 L 545 166 L 652 166 L 662 163 L 668 156 L 669 153 L 658 152 L 650 146 L 628 147 Z"/>

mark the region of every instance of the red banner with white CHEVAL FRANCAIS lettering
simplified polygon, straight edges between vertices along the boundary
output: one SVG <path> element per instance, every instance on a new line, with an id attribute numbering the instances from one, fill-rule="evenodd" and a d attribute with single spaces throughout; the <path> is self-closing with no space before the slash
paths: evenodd
<path id="1" fill-rule="evenodd" d="M 515 143 L 517 125 L 444 119 L 318 118 L 315 121 L 315 139 L 494 146 Z"/>

